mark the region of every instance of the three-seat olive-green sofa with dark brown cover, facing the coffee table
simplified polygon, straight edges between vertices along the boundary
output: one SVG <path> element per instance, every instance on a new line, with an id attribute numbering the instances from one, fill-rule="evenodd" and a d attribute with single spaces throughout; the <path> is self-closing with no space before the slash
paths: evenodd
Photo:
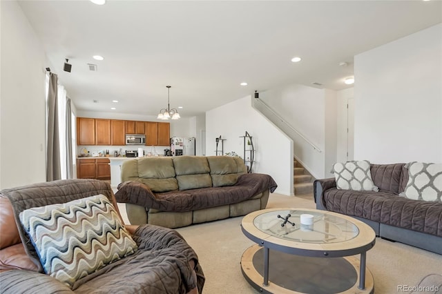
<path id="1" fill-rule="evenodd" d="M 265 208 L 277 185 L 229 156 L 144 157 L 125 161 L 115 193 L 131 224 L 168 228 Z"/>

